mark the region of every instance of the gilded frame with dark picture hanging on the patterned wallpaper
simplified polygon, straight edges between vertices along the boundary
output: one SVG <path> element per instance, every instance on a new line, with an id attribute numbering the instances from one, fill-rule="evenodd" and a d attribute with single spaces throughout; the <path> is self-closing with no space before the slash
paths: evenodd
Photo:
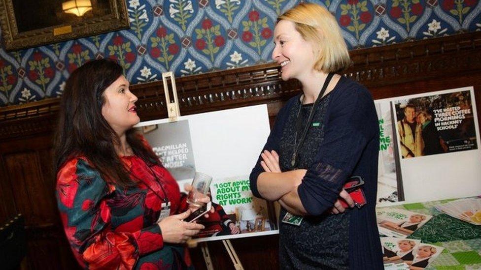
<path id="1" fill-rule="evenodd" d="M 2 45 L 17 51 L 129 28 L 125 0 L 90 0 L 83 16 L 63 10 L 68 0 L 0 0 Z"/>

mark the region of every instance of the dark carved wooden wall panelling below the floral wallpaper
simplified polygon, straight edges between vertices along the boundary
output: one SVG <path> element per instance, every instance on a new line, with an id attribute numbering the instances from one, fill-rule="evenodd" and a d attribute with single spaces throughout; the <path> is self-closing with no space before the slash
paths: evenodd
<path id="1" fill-rule="evenodd" d="M 351 51 L 345 76 L 375 99 L 474 86 L 481 119 L 481 32 Z M 271 124 L 284 102 L 300 91 L 282 82 L 275 63 L 176 78 L 182 115 L 268 104 Z M 141 120 L 166 118 L 162 82 L 131 87 Z M 0 222 L 26 213 L 29 258 L 25 269 L 77 268 L 63 234 L 53 193 L 51 136 L 58 99 L 0 108 Z M 232 240 L 246 269 L 277 269 L 277 236 Z M 209 242 L 216 269 L 233 269 L 220 241 Z M 205 269 L 200 248 L 191 250 Z M 55 266 L 54 266 L 55 265 Z"/>

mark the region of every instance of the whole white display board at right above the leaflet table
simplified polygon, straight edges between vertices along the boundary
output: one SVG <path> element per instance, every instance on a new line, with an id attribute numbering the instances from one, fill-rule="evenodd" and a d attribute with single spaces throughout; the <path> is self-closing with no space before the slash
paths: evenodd
<path id="1" fill-rule="evenodd" d="M 481 194 L 473 87 L 375 104 L 380 131 L 378 206 Z"/>

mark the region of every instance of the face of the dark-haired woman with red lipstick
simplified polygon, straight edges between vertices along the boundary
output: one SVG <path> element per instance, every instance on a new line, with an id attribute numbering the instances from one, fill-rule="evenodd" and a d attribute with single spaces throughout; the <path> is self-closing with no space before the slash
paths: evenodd
<path id="1" fill-rule="evenodd" d="M 137 96 L 129 90 L 129 82 L 124 76 L 109 85 L 103 91 L 103 97 L 103 118 L 117 134 L 127 131 L 140 121 L 134 105 Z"/>

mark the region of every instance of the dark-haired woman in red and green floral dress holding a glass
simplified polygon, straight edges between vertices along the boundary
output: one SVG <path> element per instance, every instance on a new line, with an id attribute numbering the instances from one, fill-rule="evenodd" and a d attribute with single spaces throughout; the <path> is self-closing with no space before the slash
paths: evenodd
<path id="1" fill-rule="evenodd" d="M 147 142 L 120 65 L 93 60 L 69 77 L 55 136 L 56 197 L 84 269 L 188 269 L 186 196 Z M 206 199 L 206 202 L 208 198 Z"/>

